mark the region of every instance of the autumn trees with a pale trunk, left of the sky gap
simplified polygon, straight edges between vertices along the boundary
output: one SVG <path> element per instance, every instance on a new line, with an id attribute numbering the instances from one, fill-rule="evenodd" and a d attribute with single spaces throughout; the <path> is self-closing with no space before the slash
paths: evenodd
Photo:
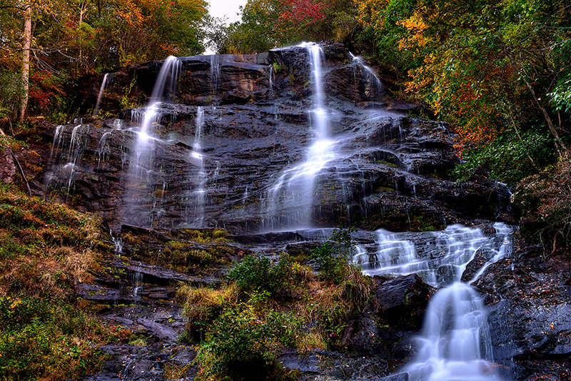
<path id="1" fill-rule="evenodd" d="M 0 106 L 23 120 L 59 110 L 63 85 L 84 73 L 203 51 L 204 0 L 5 0 L 0 6 Z M 24 23 L 22 23 L 24 21 Z"/>

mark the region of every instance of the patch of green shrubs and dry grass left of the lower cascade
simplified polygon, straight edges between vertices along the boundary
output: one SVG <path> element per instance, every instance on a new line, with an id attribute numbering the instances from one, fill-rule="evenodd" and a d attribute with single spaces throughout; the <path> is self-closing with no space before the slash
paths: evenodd
<path id="1" fill-rule="evenodd" d="M 248 256 L 224 288 L 181 287 L 184 339 L 201 342 L 198 378 L 289 380 L 295 373 L 277 361 L 283 347 L 302 353 L 338 347 L 348 320 L 370 297 L 370 280 L 350 265 L 350 250 L 350 235 L 337 230 L 311 254 L 320 273 L 286 254 L 273 261 Z"/>

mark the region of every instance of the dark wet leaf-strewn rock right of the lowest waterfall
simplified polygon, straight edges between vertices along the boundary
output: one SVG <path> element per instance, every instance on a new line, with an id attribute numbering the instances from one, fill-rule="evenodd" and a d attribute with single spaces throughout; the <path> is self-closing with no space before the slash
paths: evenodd
<path id="1" fill-rule="evenodd" d="M 566 380 L 571 355 L 570 258 L 538 250 L 490 265 L 475 285 L 490 309 L 497 362 L 513 380 Z"/>

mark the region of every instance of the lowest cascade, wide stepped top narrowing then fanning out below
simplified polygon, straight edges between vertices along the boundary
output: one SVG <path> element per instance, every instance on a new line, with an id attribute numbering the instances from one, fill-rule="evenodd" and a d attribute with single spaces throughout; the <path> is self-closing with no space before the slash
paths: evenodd
<path id="1" fill-rule="evenodd" d="M 503 223 L 495 223 L 494 228 L 491 238 L 480 229 L 462 225 L 417 236 L 378 231 L 377 253 L 356 248 L 354 261 L 363 265 L 364 273 L 419 273 L 426 283 L 443 287 L 430 299 L 415 360 L 403 369 L 408 380 L 500 380 L 491 363 L 492 345 L 482 300 L 470 285 L 460 282 L 477 254 L 485 263 L 472 280 L 509 253 L 512 228 Z M 404 235 L 412 240 L 403 239 Z M 413 245 L 413 240 L 418 240 L 418 245 Z"/>

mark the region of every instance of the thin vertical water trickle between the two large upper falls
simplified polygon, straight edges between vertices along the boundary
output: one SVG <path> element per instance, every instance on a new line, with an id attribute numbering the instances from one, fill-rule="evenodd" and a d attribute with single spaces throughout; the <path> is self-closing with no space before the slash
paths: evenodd
<path id="1" fill-rule="evenodd" d="M 194 194 L 194 213 L 192 225 L 196 228 L 203 227 L 204 223 L 204 207 L 206 204 L 206 182 L 208 176 L 204 169 L 204 156 L 201 146 L 202 129 L 204 126 L 204 109 L 201 106 L 196 108 L 196 128 L 194 133 L 194 145 L 191 153 L 191 161 L 198 168 L 198 185 L 193 191 Z M 187 213 L 188 215 L 188 213 Z M 190 223 L 187 217 L 187 223 Z"/>

